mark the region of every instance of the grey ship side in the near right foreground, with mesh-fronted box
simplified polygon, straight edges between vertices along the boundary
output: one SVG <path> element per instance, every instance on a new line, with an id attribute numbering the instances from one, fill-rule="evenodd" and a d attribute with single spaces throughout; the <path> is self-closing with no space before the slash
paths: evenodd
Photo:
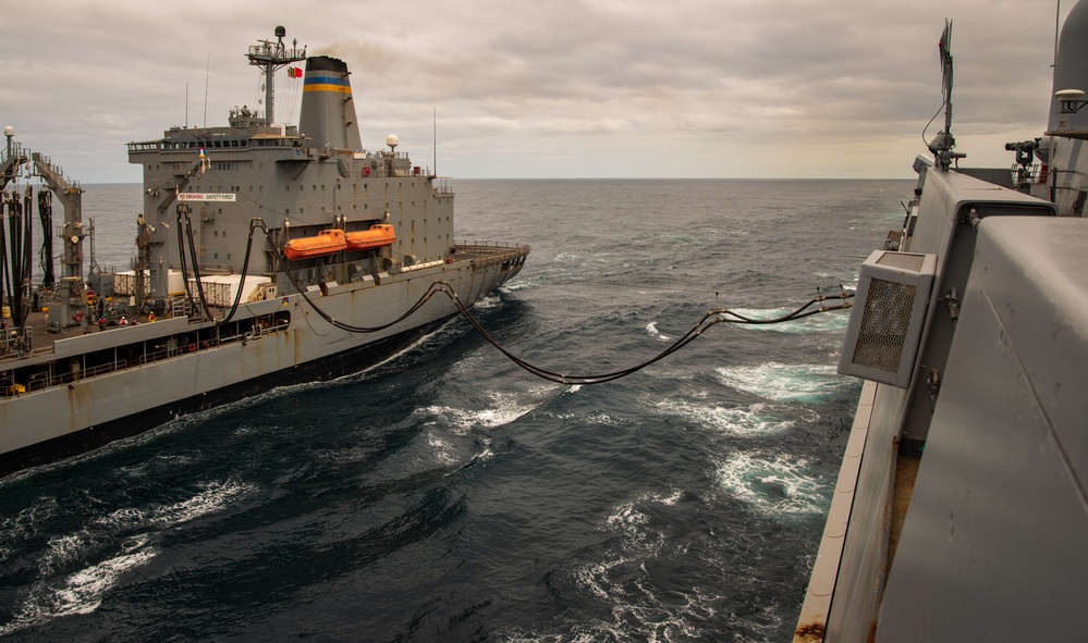
<path id="1" fill-rule="evenodd" d="M 1088 631 L 1088 2 L 1011 169 L 958 166 L 951 24 L 941 58 L 944 131 L 858 280 L 840 372 L 865 383 L 798 643 Z"/>

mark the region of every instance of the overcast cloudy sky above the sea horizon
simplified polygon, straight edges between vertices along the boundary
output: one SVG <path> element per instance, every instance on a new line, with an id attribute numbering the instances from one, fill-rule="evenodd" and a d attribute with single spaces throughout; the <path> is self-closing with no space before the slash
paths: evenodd
<path id="1" fill-rule="evenodd" d="M 444 175 L 894 178 L 926 151 L 951 18 L 956 149 L 1007 166 L 1003 144 L 1046 127 L 1056 16 L 1054 0 L 4 4 L 0 126 L 84 183 L 139 182 L 129 141 L 262 110 L 245 53 L 277 25 L 347 62 L 364 147 L 395 133 L 432 165 L 437 110 Z M 301 83 L 279 75 L 277 121 L 297 122 Z"/>

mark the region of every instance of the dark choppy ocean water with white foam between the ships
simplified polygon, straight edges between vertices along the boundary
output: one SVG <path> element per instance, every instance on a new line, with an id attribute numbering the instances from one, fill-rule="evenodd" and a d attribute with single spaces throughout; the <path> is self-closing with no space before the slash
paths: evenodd
<path id="1" fill-rule="evenodd" d="M 454 181 L 533 246 L 476 306 L 526 360 L 644 361 L 851 287 L 908 181 Z M 127 267 L 138 186 L 89 185 Z M 389 361 L 0 480 L 0 641 L 786 641 L 859 384 L 846 312 L 537 380 L 455 320 Z"/>

